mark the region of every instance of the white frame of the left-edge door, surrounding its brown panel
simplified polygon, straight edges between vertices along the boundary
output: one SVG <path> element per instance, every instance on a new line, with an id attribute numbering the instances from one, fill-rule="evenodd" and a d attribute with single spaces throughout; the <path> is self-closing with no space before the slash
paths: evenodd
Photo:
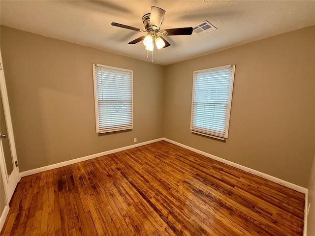
<path id="1" fill-rule="evenodd" d="M 17 162 L 17 155 L 16 155 L 14 135 L 13 135 L 13 127 L 12 127 L 12 121 L 11 121 L 9 100 L 8 100 L 6 83 L 5 83 L 5 78 L 4 78 L 1 51 L 0 51 L 0 63 L 1 63 L 0 94 L 2 97 L 2 106 L 3 106 L 4 117 L 5 117 L 5 121 L 6 121 L 7 132 L 8 132 L 7 136 L 9 139 L 11 155 L 12 155 L 12 160 L 13 160 L 13 171 L 10 175 L 8 175 L 7 170 L 6 170 L 6 165 L 5 165 L 2 142 L 0 142 L 0 168 L 1 168 L 1 174 L 2 174 L 2 179 L 3 179 L 4 191 L 5 191 L 6 200 L 7 200 L 6 202 L 7 202 L 7 204 L 9 204 L 10 200 L 12 198 L 13 192 L 16 188 L 16 185 L 20 181 L 21 177 L 20 177 L 19 167 L 15 166 L 15 162 Z"/>

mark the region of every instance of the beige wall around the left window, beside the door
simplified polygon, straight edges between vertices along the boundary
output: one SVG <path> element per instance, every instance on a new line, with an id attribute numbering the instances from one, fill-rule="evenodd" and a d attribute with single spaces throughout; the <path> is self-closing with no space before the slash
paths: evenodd
<path id="1" fill-rule="evenodd" d="M 1 53 L 20 171 L 162 137 L 163 66 L 2 26 Z M 95 133 L 92 63 L 133 70 L 132 131 Z"/>

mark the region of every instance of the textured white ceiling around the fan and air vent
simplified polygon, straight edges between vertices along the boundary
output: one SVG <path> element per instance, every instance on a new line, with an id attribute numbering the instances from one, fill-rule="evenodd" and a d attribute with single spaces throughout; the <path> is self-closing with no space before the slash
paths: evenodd
<path id="1" fill-rule="evenodd" d="M 165 36 L 170 47 L 154 51 L 154 63 L 167 65 L 294 29 L 315 25 L 315 0 L 1 0 L 0 24 L 44 36 L 146 59 L 143 29 L 151 6 L 166 10 L 161 29 L 193 27 L 208 20 L 217 29 L 199 36 Z"/>

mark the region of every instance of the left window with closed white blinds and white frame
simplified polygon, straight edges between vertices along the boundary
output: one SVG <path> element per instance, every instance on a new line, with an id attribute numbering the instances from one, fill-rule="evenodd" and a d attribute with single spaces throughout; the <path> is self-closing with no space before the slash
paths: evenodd
<path id="1" fill-rule="evenodd" d="M 132 70 L 93 64 L 96 133 L 133 128 Z"/>

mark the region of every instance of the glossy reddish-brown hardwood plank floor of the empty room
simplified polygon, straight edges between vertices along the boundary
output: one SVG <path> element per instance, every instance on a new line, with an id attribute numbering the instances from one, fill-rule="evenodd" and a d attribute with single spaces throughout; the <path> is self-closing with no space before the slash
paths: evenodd
<path id="1" fill-rule="evenodd" d="M 23 177 L 1 236 L 303 235 L 304 194 L 165 141 Z"/>

